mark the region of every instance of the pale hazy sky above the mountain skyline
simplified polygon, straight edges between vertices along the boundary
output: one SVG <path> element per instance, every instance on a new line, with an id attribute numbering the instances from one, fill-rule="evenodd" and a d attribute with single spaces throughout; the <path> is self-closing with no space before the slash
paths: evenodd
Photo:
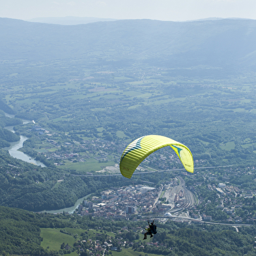
<path id="1" fill-rule="evenodd" d="M 29 20 L 41 17 L 197 20 L 256 20 L 256 0 L 0 0 L 0 17 Z"/>

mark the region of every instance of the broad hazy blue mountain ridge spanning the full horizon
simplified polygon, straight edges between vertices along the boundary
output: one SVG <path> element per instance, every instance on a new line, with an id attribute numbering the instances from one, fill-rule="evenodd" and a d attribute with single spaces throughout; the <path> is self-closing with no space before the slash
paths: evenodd
<path id="1" fill-rule="evenodd" d="M 188 70 L 253 70 L 256 20 L 117 20 L 53 25 L 0 18 L 1 59 L 94 58 Z"/>

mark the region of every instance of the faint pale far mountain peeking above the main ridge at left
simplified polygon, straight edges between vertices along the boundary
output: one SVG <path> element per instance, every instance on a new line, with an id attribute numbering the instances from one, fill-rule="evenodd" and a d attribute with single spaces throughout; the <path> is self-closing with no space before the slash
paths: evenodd
<path id="1" fill-rule="evenodd" d="M 115 19 L 66 16 L 66 17 L 34 18 L 26 21 L 59 24 L 59 25 L 79 25 L 79 24 L 87 24 L 87 23 L 98 22 L 98 21 L 114 21 L 114 20 Z"/>

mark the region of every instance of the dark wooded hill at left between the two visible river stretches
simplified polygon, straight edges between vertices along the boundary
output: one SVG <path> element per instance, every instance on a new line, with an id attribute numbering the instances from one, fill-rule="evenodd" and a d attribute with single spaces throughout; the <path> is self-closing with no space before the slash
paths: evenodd
<path id="1" fill-rule="evenodd" d="M 0 205 L 35 212 L 57 210 L 73 206 L 90 193 L 124 184 L 121 177 L 98 180 L 71 176 L 70 171 L 57 167 L 38 167 L 12 158 L 4 150 L 0 156 Z"/>

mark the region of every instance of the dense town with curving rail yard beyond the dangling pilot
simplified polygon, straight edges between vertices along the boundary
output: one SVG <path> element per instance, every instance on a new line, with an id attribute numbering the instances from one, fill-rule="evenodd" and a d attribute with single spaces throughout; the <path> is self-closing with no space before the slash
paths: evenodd
<path id="1" fill-rule="evenodd" d="M 183 184 L 182 184 L 183 183 Z M 199 185 L 197 185 L 199 186 Z M 127 186 L 112 188 L 83 201 L 77 213 L 104 218 L 172 218 L 175 221 L 218 221 L 221 223 L 255 223 L 256 200 L 251 192 L 224 183 L 207 185 L 214 197 L 196 195 L 197 186 L 191 192 L 181 177 L 171 184 L 154 186 Z M 208 209 L 212 208 L 212 212 Z M 214 212 L 214 214 L 213 214 Z"/>

